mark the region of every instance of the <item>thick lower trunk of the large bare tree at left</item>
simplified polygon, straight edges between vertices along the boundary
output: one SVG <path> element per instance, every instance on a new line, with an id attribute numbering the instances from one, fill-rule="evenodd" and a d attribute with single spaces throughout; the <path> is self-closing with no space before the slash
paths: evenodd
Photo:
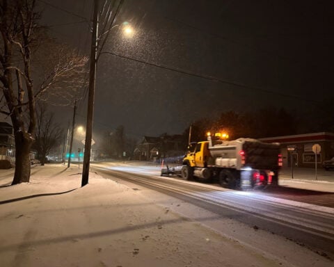
<path id="1" fill-rule="evenodd" d="M 31 161 L 30 151 L 33 138 L 29 133 L 15 131 L 15 174 L 13 184 L 28 183 L 30 179 Z"/>

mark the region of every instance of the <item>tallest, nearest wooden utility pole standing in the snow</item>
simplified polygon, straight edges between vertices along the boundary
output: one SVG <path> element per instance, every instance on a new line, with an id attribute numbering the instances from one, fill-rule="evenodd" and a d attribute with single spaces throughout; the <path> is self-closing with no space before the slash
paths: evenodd
<path id="1" fill-rule="evenodd" d="M 98 9 L 99 9 L 99 0 L 94 0 L 93 34 L 92 34 L 92 42 L 91 42 L 91 47 L 90 47 L 90 70 L 89 70 L 86 140 L 85 140 L 84 162 L 82 165 L 81 186 L 86 186 L 86 184 L 88 184 L 89 165 L 90 165 L 90 149 L 92 147 L 94 94 L 95 94 L 95 77 L 96 77 L 96 61 L 97 61 Z"/>

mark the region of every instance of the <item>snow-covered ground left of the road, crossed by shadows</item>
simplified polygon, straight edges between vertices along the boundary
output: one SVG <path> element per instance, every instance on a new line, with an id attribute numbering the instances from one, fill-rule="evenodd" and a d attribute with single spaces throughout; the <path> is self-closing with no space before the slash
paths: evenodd
<path id="1" fill-rule="evenodd" d="M 333 264 L 287 240 L 285 257 L 255 250 L 94 172 L 81 188 L 75 165 L 38 165 L 29 184 L 6 186 L 12 173 L 0 170 L 1 266 L 292 266 L 294 254 L 294 266 Z"/>

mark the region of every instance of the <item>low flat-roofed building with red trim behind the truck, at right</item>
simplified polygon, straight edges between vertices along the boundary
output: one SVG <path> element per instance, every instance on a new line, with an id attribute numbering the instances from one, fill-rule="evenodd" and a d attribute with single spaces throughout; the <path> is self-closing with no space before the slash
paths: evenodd
<path id="1" fill-rule="evenodd" d="M 283 166 L 321 167 L 323 161 L 334 156 L 334 133 L 306 133 L 294 136 L 276 136 L 260 138 L 262 142 L 280 143 L 283 156 Z M 313 152 L 314 145 L 319 145 L 317 154 Z"/>

